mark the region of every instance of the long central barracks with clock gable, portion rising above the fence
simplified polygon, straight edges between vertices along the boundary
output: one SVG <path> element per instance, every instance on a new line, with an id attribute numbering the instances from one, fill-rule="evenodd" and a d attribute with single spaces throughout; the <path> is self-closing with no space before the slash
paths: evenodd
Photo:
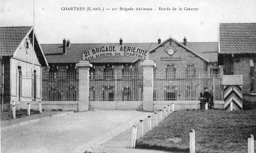
<path id="1" fill-rule="evenodd" d="M 75 72 L 75 64 L 82 60 L 82 52 L 97 47 L 124 45 L 147 50 L 149 58 L 156 63 L 155 71 L 219 71 L 217 65 L 217 42 L 184 42 L 168 38 L 158 43 L 85 43 L 41 44 L 49 63 L 48 72 Z M 63 47 L 64 46 L 64 47 Z M 91 72 L 141 71 L 142 60 L 134 57 L 108 56 L 90 60 Z"/>

